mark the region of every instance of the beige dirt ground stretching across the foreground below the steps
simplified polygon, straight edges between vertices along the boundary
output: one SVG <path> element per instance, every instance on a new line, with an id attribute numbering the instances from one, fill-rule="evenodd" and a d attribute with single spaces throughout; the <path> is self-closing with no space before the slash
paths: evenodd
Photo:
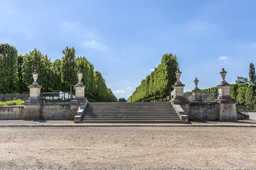
<path id="1" fill-rule="evenodd" d="M 0 169 L 256 169 L 256 128 L 0 128 Z"/>

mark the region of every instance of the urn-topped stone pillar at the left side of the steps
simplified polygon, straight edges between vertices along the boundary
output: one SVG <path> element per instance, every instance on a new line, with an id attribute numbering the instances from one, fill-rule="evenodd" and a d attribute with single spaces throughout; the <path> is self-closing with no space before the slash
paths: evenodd
<path id="1" fill-rule="evenodd" d="M 73 102 L 85 102 L 85 86 L 82 84 L 82 72 L 78 72 L 78 84 L 75 84 L 75 98 Z"/>

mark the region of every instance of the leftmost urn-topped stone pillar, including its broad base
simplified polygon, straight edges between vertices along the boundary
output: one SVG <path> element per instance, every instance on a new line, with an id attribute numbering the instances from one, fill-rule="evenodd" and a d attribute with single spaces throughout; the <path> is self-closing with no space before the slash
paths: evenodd
<path id="1" fill-rule="evenodd" d="M 42 87 L 38 85 L 36 80 L 38 79 L 38 73 L 36 70 L 32 73 L 33 84 L 28 86 L 30 89 L 29 98 L 25 103 L 23 103 L 24 108 L 21 113 L 20 119 L 27 120 L 39 120 L 41 119 L 42 104 L 41 104 L 41 89 Z"/>

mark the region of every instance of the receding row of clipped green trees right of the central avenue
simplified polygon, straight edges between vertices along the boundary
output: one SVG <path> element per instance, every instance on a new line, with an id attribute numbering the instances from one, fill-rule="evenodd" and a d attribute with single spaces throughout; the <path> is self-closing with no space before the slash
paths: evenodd
<path id="1" fill-rule="evenodd" d="M 132 96 L 128 98 L 128 102 L 142 101 L 153 96 L 169 96 L 173 90 L 172 85 L 176 82 L 177 67 L 176 55 L 163 55 L 161 64 L 142 80 Z"/>

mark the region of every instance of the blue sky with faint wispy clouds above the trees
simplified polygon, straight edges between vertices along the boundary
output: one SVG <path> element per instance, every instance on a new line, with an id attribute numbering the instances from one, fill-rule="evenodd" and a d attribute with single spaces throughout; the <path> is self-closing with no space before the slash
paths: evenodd
<path id="1" fill-rule="evenodd" d="M 248 77 L 256 64 L 256 1 L 0 0 L 0 43 L 35 47 L 52 61 L 75 47 L 128 98 L 165 53 L 177 56 L 185 91 Z"/>

